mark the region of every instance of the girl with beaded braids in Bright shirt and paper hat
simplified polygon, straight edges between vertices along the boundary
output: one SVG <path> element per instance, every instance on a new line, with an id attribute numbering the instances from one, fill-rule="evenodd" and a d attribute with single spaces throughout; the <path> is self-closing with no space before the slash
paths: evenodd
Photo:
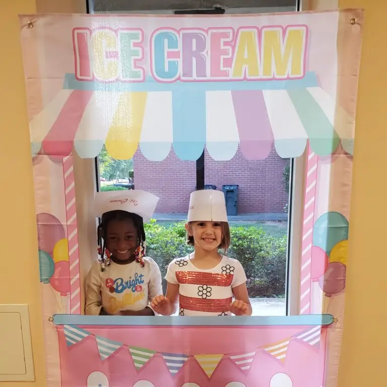
<path id="1" fill-rule="evenodd" d="M 99 192 L 96 197 L 99 261 L 86 280 L 86 314 L 154 315 L 150 301 L 162 292 L 161 273 L 146 256 L 144 222 L 159 198 L 150 192 Z"/>

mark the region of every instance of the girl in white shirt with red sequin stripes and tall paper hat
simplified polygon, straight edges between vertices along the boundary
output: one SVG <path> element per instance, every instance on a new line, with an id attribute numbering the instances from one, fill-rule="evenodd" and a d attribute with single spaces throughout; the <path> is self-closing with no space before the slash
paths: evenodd
<path id="1" fill-rule="evenodd" d="M 170 263 L 166 295 L 156 296 L 152 308 L 163 315 L 177 307 L 180 316 L 251 315 L 242 265 L 225 255 L 230 228 L 223 192 L 192 192 L 185 228 L 194 251 Z"/>

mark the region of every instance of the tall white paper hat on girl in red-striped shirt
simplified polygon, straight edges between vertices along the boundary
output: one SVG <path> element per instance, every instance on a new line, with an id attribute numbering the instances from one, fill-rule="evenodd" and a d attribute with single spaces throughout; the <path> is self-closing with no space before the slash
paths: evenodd
<path id="1" fill-rule="evenodd" d="M 215 189 L 193 191 L 189 199 L 188 222 L 227 222 L 224 193 Z"/>

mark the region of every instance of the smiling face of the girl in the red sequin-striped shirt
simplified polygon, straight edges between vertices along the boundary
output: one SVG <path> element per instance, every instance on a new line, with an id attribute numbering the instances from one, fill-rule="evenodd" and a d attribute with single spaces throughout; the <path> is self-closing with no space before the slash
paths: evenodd
<path id="1" fill-rule="evenodd" d="M 185 225 L 189 236 L 193 237 L 195 245 L 203 250 L 212 251 L 218 248 L 222 242 L 221 222 L 199 221 Z"/>

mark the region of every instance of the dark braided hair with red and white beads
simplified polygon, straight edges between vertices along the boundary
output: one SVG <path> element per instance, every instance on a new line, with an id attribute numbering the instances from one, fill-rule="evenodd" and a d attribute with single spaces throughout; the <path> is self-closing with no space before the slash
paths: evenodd
<path id="1" fill-rule="evenodd" d="M 132 220 L 133 224 L 137 231 L 137 249 L 135 252 L 136 262 L 138 262 L 141 267 L 144 267 L 143 257 L 146 253 L 146 242 L 145 242 L 145 229 L 143 218 L 140 215 L 134 214 L 132 212 L 122 211 L 122 210 L 114 210 L 105 212 L 102 214 L 101 223 L 97 228 L 98 235 L 98 244 L 102 245 L 102 248 L 98 248 L 98 253 L 100 255 L 100 263 L 101 263 L 101 272 L 105 270 L 105 265 L 110 265 L 110 252 L 106 248 L 106 240 L 107 240 L 107 226 L 111 221 L 123 221 L 123 220 Z M 102 239 L 102 240 L 101 240 Z M 103 243 L 101 243 L 103 241 Z M 106 257 L 105 257 L 106 255 Z"/>

